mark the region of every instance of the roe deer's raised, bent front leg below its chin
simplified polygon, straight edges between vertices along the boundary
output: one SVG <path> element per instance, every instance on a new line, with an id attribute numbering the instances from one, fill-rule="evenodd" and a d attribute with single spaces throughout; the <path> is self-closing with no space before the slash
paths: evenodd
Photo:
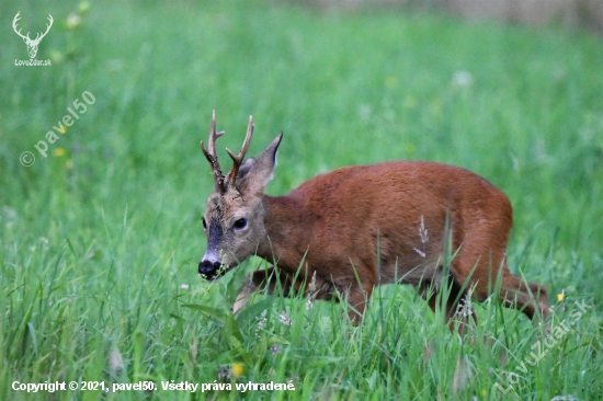
<path id="1" fill-rule="evenodd" d="M 292 288 L 296 291 L 299 289 L 299 283 L 293 282 L 293 278 L 285 273 L 278 273 L 274 271 L 274 267 L 269 267 L 262 271 L 255 271 L 247 275 L 247 279 L 243 284 L 243 287 L 237 300 L 232 306 L 232 313 L 237 313 L 251 298 L 255 291 L 264 291 L 268 294 L 273 294 L 277 288 L 277 283 L 281 283 L 281 288 L 283 288 L 283 296 L 288 297 Z"/>

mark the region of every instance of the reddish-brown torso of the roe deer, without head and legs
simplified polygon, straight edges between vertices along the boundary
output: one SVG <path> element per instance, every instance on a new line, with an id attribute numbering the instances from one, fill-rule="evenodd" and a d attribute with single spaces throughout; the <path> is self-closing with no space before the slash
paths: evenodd
<path id="1" fill-rule="evenodd" d="M 408 274 L 405 282 L 417 284 L 442 264 L 446 230 L 453 250 L 502 254 L 512 226 L 500 190 L 465 169 L 429 162 L 342 168 L 263 204 L 270 243 L 259 255 L 289 273 L 304 260 L 344 284 L 355 279 L 352 266 L 376 283 Z"/>

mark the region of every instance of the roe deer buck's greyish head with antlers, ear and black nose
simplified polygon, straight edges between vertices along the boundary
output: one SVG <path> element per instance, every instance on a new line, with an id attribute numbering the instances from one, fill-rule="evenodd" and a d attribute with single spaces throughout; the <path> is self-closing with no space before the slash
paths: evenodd
<path id="1" fill-rule="evenodd" d="M 212 117 L 208 150 L 201 141 L 201 150 L 207 158 L 214 174 L 214 192 L 207 199 L 203 215 L 203 229 L 207 236 L 207 250 L 198 264 L 198 274 L 215 279 L 226 271 L 236 267 L 255 253 L 258 244 L 265 239 L 264 190 L 272 180 L 281 133 L 258 159 L 243 162 L 253 135 L 253 118 L 249 117 L 247 135 L 240 152 L 232 159 L 230 172 L 224 176 L 216 153 L 216 139 L 224 131 L 216 133 L 216 112 Z"/>

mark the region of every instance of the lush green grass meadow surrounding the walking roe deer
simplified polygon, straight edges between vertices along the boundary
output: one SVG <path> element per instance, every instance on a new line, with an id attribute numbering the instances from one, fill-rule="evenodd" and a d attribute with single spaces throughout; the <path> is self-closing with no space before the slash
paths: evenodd
<path id="1" fill-rule="evenodd" d="M 0 3 L 0 400 L 603 398 L 600 37 L 264 1 L 88 5 Z M 14 65 L 29 59 L 10 28 L 18 11 L 23 32 L 54 16 L 37 55 L 52 67 Z M 84 100 L 52 144 L 46 133 Z M 198 142 L 214 108 L 223 160 L 250 114 L 250 154 L 284 131 L 272 195 L 395 159 L 486 176 L 514 207 L 511 270 L 549 288 L 554 326 L 574 324 L 546 339 L 487 301 L 459 340 L 405 286 L 376 291 L 357 328 L 343 305 L 265 295 L 235 319 L 243 270 L 265 262 L 213 284 L 197 275 L 213 188 Z M 590 308 L 578 317 L 576 301 Z M 112 391 L 139 381 L 158 390 Z M 249 381 L 295 391 L 236 390 Z"/>

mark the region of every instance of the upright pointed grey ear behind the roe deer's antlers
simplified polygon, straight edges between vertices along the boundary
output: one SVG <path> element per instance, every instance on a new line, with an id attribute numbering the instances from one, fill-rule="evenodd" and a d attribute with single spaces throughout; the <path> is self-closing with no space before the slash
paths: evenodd
<path id="1" fill-rule="evenodd" d="M 274 167 L 276 165 L 276 152 L 278 151 L 278 145 L 283 133 L 278 134 L 276 138 L 258 156 L 253 162 L 251 162 L 248 172 L 244 171 L 241 179 L 240 190 L 247 194 L 263 194 L 268 183 L 274 176 Z M 243 165 L 247 164 L 243 163 Z M 242 167 L 241 167 L 242 170 Z"/>

